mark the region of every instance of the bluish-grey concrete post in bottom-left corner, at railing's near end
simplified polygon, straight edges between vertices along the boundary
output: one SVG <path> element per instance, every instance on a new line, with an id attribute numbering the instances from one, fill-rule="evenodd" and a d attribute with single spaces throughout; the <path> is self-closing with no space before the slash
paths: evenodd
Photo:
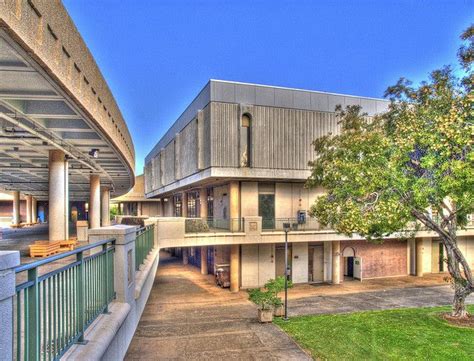
<path id="1" fill-rule="evenodd" d="M 0 251 L 0 350 L 2 360 L 13 360 L 13 299 L 15 270 L 20 265 L 20 252 Z"/>

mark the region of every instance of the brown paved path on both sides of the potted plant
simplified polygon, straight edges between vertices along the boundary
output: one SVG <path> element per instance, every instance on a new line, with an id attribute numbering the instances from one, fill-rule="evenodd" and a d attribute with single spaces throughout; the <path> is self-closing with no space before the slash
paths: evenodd
<path id="1" fill-rule="evenodd" d="M 449 305 L 452 289 L 440 285 L 442 277 L 298 285 L 290 290 L 289 314 Z M 259 324 L 246 298 L 246 292 L 220 289 L 212 276 L 162 256 L 126 360 L 309 359 L 278 327 Z"/>

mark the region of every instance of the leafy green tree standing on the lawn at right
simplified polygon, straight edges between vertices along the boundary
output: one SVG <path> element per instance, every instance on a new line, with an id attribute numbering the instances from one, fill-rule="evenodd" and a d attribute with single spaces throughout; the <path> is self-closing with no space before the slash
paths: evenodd
<path id="1" fill-rule="evenodd" d="M 466 317 L 474 283 L 456 230 L 474 212 L 474 26 L 461 39 L 461 69 L 435 70 L 418 86 L 400 79 L 386 91 L 384 114 L 338 106 L 341 130 L 313 142 L 307 186 L 325 188 L 310 213 L 340 233 L 383 242 L 421 226 L 436 232 L 455 293 L 452 314 Z"/>

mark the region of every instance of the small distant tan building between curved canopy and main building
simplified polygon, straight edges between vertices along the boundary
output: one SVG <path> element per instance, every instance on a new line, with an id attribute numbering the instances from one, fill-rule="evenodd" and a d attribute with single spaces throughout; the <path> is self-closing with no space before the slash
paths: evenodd
<path id="1" fill-rule="evenodd" d="M 145 178 L 143 174 L 135 177 L 135 185 L 127 194 L 113 198 L 119 214 L 125 216 L 162 216 L 161 199 L 145 197 Z"/>

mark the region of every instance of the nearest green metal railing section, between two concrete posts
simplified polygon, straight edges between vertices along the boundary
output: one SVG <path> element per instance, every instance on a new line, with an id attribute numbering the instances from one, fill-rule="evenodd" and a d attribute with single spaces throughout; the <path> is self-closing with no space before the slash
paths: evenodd
<path id="1" fill-rule="evenodd" d="M 108 239 L 15 269 L 19 276 L 27 273 L 26 282 L 16 286 L 17 360 L 57 360 L 74 343 L 85 342 L 84 331 L 115 298 L 114 252 L 115 240 Z M 40 267 L 73 256 L 40 275 Z"/>

